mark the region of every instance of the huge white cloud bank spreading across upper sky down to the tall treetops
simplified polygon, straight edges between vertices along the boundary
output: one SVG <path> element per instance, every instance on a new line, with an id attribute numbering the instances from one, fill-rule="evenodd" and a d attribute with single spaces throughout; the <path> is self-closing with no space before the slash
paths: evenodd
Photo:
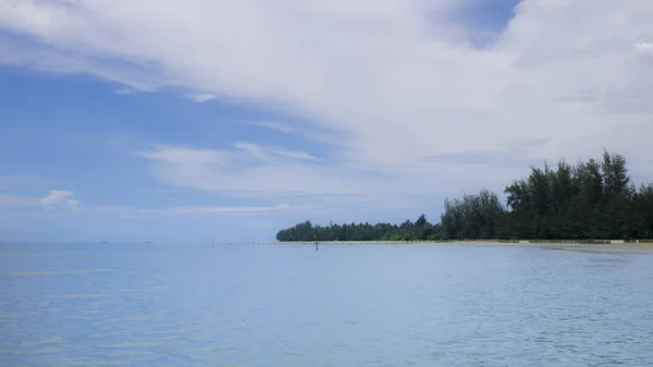
<path id="1" fill-rule="evenodd" d="M 141 154 L 167 183 L 229 195 L 456 195 L 604 147 L 653 173 L 653 2 L 523 0 L 482 49 L 449 22 L 458 3 L 1 1 L 0 28 L 44 46 L 0 42 L 0 62 L 246 99 L 337 132 L 328 166 L 246 144 Z M 544 143 L 515 148 L 529 140 Z M 521 171 L 492 167 L 510 157 Z"/>

